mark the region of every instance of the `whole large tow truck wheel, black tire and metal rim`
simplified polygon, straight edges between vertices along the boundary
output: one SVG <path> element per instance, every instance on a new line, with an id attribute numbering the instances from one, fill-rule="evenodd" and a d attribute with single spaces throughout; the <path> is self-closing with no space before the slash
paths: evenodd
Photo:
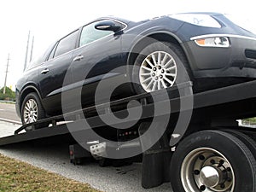
<path id="1" fill-rule="evenodd" d="M 174 192 L 255 192 L 256 160 L 240 139 L 201 131 L 178 144 L 171 161 Z"/>

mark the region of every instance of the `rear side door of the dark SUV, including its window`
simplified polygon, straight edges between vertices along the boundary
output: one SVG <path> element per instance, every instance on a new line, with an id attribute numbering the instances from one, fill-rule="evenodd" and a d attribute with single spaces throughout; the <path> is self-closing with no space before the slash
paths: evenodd
<path id="1" fill-rule="evenodd" d="M 72 63 L 78 35 L 79 30 L 61 38 L 52 49 L 48 61 L 39 69 L 39 88 L 47 113 L 61 113 L 61 91 L 70 90 L 68 84 L 73 83 L 73 77 L 67 70 Z M 64 79 L 68 80 L 63 87 Z"/>

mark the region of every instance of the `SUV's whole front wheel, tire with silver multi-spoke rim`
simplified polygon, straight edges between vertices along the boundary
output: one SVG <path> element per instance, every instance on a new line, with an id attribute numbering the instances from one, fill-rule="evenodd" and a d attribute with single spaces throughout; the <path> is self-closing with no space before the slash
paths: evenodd
<path id="1" fill-rule="evenodd" d="M 189 81 L 190 76 L 189 63 L 177 44 L 155 42 L 137 55 L 131 79 L 135 92 L 140 94 Z"/>

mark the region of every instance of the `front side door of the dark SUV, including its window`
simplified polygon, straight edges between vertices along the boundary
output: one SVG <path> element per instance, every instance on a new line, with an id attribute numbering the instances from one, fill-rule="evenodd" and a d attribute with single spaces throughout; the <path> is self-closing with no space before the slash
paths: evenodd
<path id="1" fill-rule="evenodd" d="M 97 30 L 95 26 L 99 22 L 102 20 L 96 20 L 82 28 L 79 49 L 73 52 L 73 81 L 78 89 L 83 86 L 80 98 L 84 105 L 93 104 L 96 85 L 100 81 L 124 76 L 121 71 L 109 73 L 114 68 L 125 65 L 121 54 L 122 32 Z M 125 24 L 116 20 L 114 22 L 121 26 L 120 31 L 125 27 Z"/>

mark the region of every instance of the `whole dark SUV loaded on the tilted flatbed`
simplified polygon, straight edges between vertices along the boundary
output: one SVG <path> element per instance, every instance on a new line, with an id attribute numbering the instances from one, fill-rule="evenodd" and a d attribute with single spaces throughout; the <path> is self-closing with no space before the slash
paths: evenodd
<path id="1" fill-rule="evenodd" d="M 177 83 L 181 67 L 195 91 L 254 79 L 256 35 L 218 13 L 140 22 L 100 18 L 56 41 L 26 68 L 16 85 L 16 110 L 23 124 L 60 114 L 65 92 L 72 111 L 79 89 L 81 104 L 92 105 L 99 82 L 105 82 L 102 93 L 128 82 L 113 98 L 165 89 Z"/>

